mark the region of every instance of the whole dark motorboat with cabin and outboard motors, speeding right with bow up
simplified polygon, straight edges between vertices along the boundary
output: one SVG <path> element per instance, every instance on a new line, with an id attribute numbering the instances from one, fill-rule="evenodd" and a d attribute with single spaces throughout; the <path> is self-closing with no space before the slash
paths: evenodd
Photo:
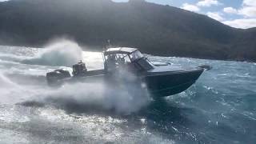
<path id="1" fill-rule="evenodd" d="M 135 79 L 136 84 L 153 97 L 167 97 L 188 89 L 205 70 L 211 69 L 210 66 L 182 68 L 169 63 L 154 64 L 138 49 L 128 47 L 104 50 L 102 58 L 102 70 L 87 70 L 81 61 L 73 66 L 72 76 L 69 71 L 55 70 L 46 74 L 47 82 L 50 86 L 56 86 L 65 82 L 93 82 L 101 79 L 106 83 L 122 82 L 125 85 L 129 79 Z"/>

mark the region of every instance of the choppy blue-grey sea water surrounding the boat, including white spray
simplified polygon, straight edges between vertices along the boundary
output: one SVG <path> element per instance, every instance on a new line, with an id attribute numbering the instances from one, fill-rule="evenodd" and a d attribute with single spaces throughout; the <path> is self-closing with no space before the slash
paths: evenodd
<path id="1" fill-rule="evenodd" d="M 46 49 L 0 46 L 0 143 L 256 142 L 256 64 L 147 55 L 174 66 L 208 64 L 189 90 L 154 100 L 95 83 L 50 88 L 46 72 L 102 55 L 73 42 Z"/>

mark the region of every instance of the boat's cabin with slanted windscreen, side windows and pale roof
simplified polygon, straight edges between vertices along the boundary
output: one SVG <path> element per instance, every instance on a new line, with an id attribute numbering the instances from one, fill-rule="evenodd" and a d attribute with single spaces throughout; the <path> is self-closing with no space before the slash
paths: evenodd
<path id="1" fill-rule="evenodd" d="M 154 68 L 154 65 L 135 48 L 110 48 L 103 52 L 103 56 L 104 70 L 107 72 L 114 71 L 118 68 L 135 72 Z"/>

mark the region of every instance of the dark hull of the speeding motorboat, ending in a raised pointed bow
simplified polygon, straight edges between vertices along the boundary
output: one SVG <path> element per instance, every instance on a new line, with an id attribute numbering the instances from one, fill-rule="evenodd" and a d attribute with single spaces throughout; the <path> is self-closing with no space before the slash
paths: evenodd
<path id="1" fill-rule="evenodd" d="M 72 82 L 104 82 L 106 85 L 112 86 L 142 86 L 146 84 L 146 90 L 154 98 L 167 97 L 170 95 L 181 93 L 192 86 L 200 77 L 204 69 L 197 67 L 191 70 L 175 70 L 175 71 L 158 71 L 146 72 L 146 74 L 138 74 L 137 80 L 129 82 L 129 78 L 116 78 L 116 74 L 105 74 L 104 70 L 92 70 L 90 74 L 78 78 L 66 78 L 55 83 L 58 86 L 64 83 Z"/>

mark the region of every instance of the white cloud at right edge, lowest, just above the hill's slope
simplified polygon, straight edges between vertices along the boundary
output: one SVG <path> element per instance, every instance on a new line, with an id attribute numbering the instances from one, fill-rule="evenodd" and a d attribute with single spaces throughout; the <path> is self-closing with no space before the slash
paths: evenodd
<path id="1" fill-rule="evenodd" d="M 223 23 L 236 28 L 248 29 L 251 27 L 256 27 L 256 18 L 235 19 L 233 21 L 225 21 Z"/>

